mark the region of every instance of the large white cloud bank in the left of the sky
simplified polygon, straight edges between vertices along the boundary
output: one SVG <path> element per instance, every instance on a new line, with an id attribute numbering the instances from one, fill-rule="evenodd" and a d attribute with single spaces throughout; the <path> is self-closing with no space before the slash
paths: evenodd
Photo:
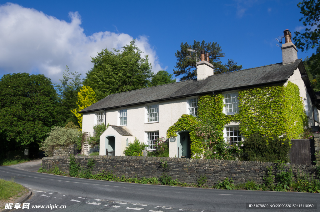
<path id="1" fill-rule="evenodd" d="M 18 4 L 0 5 L 0 75 L 40 73 L 58 82 L 68 65 L 84 77 L 97 52 L 120 49 L 133 39 L 128 34 L 108 31 L 86 36 L 78 12 L 69 12 L 69 17 L 71 22 L 66 22 Z M 136 39 L 137 47 L 149 55 L 152 71 L 163 69 L 148 38 Z"/>

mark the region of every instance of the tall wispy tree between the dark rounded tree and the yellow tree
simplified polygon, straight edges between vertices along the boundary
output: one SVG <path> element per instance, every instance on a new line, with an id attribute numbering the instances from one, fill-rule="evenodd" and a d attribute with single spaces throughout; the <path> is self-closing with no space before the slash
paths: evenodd
<path id="1" fill-rule="evenodd" d="M 78 123 L 76 116 L 71 112 L 76 108 L 77 94 L 82 87 L 81 74 L 78 72 L 70 72 L 68 66 L 62 75 L 60 84 L 56 85 L 56 90 L 59 97 L 58 110 L 61 116 L 63 125 L 68 122 Z"/>

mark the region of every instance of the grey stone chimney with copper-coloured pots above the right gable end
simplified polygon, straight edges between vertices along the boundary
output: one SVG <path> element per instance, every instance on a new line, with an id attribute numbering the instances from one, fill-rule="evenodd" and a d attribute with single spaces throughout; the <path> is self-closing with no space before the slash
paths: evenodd
<path id="1" fill-rule="evenodd" d="M 291 41 L 291 32 L 284 30 L 285 44 L 282 45 L 282 64 L 291 63 L 298 59 L 297 47 Z"/>

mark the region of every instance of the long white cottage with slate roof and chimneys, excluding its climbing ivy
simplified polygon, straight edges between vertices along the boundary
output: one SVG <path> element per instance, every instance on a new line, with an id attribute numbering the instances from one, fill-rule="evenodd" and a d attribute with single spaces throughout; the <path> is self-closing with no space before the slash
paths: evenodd
<path id="1" fill-rule="evenodd" d="M 316 103 L 302 59 L 297 59 L 297 48 L 291 42 L 291 33 L 289 30 L 284 33 L 286 43 L 282 45 L 281 63 L 214 75 L 214 67 L 205 60 L 202 51 L 201 61 L 197 62 L 197 79 L 108 95 L 80 111 L 83 113 L 82 130 L 92 134 L 95 124 L 110 124 L 100 136 L 100 155 L 106 155 L 107 150 L 114 151 L 115 155 L 124 155 L 125 147 L 135 137 L 148 144 L 148 150 L 154 150 L 153 141 L 157 137 L 166 137 L 167 129 L 181 115 L 196 116 L 199 95 L 223 94 L 226 105 L 224 112 L 228 115 L 238 111 L 239 90 L 286 85 L 288 81 L 300 89 L 300 96 L 305 100 L 309 126 L 317 126 L 320 106 Z M 238 123 L 231 122 L 224 127 L 226 141 L 231 143 L 243 139 L 238 126 Z M 178 148 L 181 150 L 181 147 L 187 151 L 179 154 Z M 174 142 L 169 142 L 169 156 L 189 158 L 189 148 L 188 132 L 180 132 Z"/>

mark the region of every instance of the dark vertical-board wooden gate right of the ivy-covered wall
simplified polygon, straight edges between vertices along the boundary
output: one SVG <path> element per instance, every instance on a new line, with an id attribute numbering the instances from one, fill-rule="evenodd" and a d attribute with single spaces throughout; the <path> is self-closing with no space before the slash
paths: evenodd
<path id="1" fill-rule="evenodd" d="M 290 161 L 294 164 L 313 165 L 315 160 L 315 142 L 313 139 L 292 139 Z"/>

